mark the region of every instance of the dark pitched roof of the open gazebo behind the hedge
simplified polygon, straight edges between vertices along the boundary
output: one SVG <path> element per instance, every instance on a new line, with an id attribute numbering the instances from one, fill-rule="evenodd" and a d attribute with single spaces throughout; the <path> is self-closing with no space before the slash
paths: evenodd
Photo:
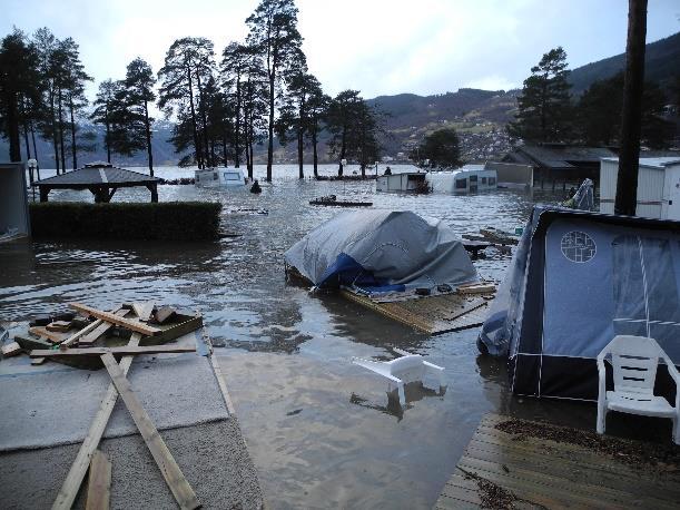
<path id="1" fill-rule="evenodd" d="M 87 188 L 88 186 L 145 186 L 159 182 L 158 177 L 118 168 L 108 163 L 90 163 L 77 170 L 38 180 L 36 185 L 53 188 Z"/>

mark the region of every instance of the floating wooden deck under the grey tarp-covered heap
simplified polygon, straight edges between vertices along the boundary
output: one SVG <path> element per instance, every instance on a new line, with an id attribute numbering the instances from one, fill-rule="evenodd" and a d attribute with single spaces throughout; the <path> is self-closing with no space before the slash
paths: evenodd
<path id="1" fill-rule="evenodd" d="M 482 325 L 491 304 L 491 300 L 479 295 L 445 294 L 392 302 L 380 302 L 345 290 L 342 295 L 431 335 Z"/>

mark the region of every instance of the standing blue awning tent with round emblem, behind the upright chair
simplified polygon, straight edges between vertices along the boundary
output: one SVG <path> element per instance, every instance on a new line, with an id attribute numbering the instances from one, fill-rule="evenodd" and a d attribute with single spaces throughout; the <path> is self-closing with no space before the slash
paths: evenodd
<path id="1" fill-rule="evenodd" d="M 536 206 L 480 349 L 507 355 L 518 394 L 597 400 L 595 357 L 619 334 L 680 364 L 680 223 Z"/>

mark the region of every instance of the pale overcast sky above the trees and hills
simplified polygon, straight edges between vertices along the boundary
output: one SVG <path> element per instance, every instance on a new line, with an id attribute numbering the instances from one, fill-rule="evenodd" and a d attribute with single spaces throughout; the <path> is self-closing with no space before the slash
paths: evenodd
<path id="1" fill-rule="evenodd" d="M 258 0 L 0 0 L 0 30 L 47 26 L 79 45 L 96 84 L 136 57 L 161 66 L 170 43 L 243 40 Z M 571 68 L 625 49 L 625 0 L 296 0 L 309 70 L 332 95 L 366 98 L 520 87 L 562 46 Z M 649 0 L 647 40 L 680 30 L 679 0 Z M 93 95 L 97 85 L 89 88 Z"/>

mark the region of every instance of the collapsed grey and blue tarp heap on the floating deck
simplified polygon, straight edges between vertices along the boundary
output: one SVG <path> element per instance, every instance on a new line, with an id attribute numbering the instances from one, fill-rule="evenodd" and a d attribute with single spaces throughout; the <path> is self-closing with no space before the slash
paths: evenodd
<path id="1" fill-rule="evenodd" d="M 460 237 L 412 212 L 341 213 L 293 245 L 285 259 L 317 287 L 366 294 L 479 281 Z"/>

